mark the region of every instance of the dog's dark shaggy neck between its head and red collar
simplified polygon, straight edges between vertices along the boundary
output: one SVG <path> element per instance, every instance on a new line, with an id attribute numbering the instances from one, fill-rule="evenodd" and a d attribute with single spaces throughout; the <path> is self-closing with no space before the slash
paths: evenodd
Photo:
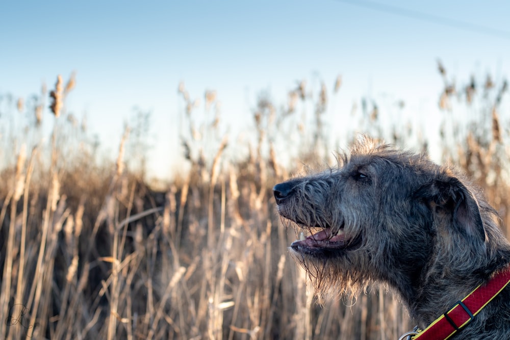
<path id="1" fill-rule="evenodd" d="M 397 266 L 406 270 L 398 271 L 399 277 L 389 282 L 421 327 L 510 265 L 510 244 L 496 226 L 486 228 L 485 240 L 452 232 L 447 225 L 430 229 L 436 230 L 430 244 L 417 251 L 422 261 L 414 261 L 415 267 Z"/>

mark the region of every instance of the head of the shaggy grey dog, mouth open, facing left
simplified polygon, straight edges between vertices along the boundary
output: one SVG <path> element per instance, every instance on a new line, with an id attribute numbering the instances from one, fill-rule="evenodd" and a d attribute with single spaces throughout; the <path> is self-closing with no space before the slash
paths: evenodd
<path id="1" fill-rule="evenodd" d="M 425 155 L 364 140 L 337 168 L 273 193 L 283 221 L 298 229 L 291 254 L 318 292 L 353 293 L 376 281 L 412 296 L 445 256 L 466 268 L 466 256 L 487 251 L 494 210 L 460 178 Z"/>

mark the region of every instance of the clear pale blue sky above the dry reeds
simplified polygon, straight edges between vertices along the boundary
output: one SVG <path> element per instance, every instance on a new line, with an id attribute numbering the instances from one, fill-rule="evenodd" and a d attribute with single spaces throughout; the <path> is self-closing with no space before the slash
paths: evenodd
<path id="1" fill-rule="evenodd" d="M 438 58 L 459 77 L 510 75 L 510 2 L 353 3 L 6 1 L 0 93 L 28 97 L 76 71 L 67 108 L 86 113 L 103 146 L 117 149 L 133 107 L 151 112 L 150 173 L 165 177 L 182 152 L 181 81 L 192 97 L 216 90 L 224 124 L 242 132 L 260 91 L 285 101 L 301 79 L 332 86 L 342 74 L 343 110 L 387 95 L 428 116 L 442 89 Z"/>

